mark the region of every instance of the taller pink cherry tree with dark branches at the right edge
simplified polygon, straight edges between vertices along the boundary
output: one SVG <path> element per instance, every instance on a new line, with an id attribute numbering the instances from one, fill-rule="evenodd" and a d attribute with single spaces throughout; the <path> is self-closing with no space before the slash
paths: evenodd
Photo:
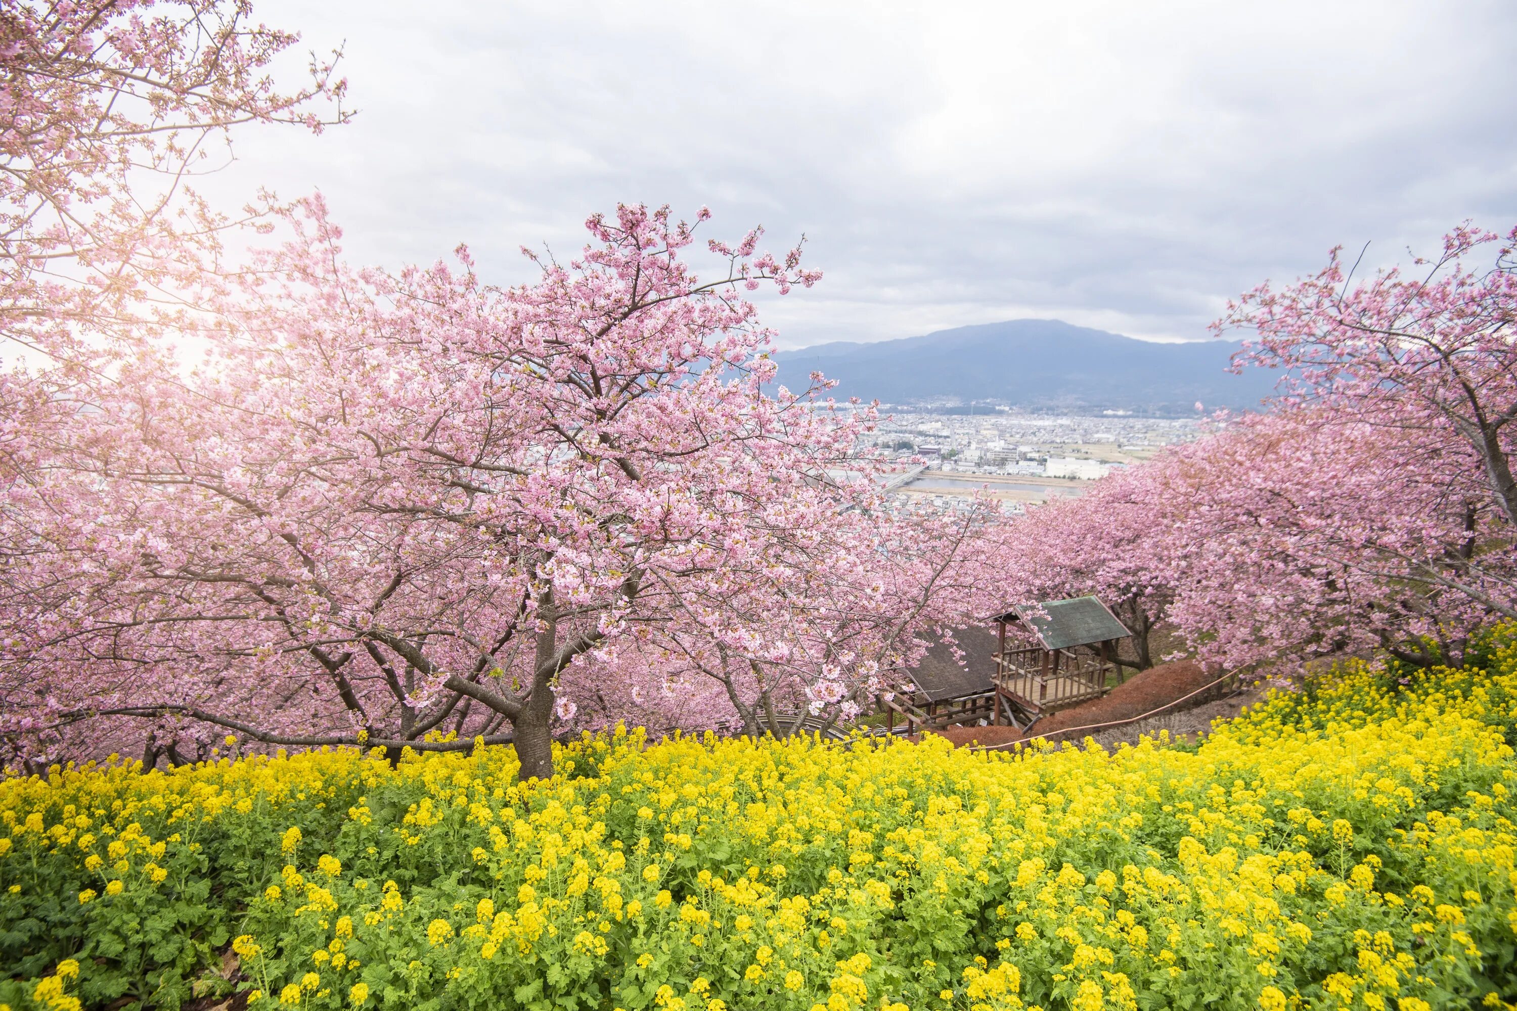
<path id="1" fill-rule="evenodd" d="M 1517 229 L 1465 224 L 1411 271 L 1359 282 L 1333 250 L 1321 273 L 1262 285 L 1217 324 L 1253 332 L 1236 368 L 1283 370 L 1280 408 L 1309 418 L 1292 437 L 1311 471 L 1296 479 L 1312 480 L 1297 505 L 1314 524 L 1306 541 L 1382 590 L 1405 588 L 1390 611 L 1415 615 L 1421 643 L 1376 634 L 1417 662 L 1517 617 L 1514 244 Z"/>

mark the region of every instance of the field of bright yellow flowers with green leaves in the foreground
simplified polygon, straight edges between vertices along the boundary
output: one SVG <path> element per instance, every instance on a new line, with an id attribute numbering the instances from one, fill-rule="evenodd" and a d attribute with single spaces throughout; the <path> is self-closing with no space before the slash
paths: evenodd
<path id="1" fill-rule="evenodd" d="M 0 784 L 0 1002 L 1426 1008 L 1517 1000 L 1517 646 L 1200 747 L 640 732 Z M 234 1005 L 235 1006 L 235 1005 Z"/>

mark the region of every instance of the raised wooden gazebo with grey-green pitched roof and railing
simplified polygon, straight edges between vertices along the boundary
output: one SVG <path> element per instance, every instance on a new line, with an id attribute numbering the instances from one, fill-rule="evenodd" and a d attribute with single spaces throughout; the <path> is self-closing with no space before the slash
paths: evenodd
<path id="1" fill-rule="evenodd" d="M 1106 694 L 1118 640 L 1132 632 L 1095 597 L 1044 600 L 1012 608 L 992 618 L 1000 649 L 995 653 L 995 715 L 1003 711 L 1018 726 Z M 1015 640 L 1007 641 L 1007 631 Z"/>

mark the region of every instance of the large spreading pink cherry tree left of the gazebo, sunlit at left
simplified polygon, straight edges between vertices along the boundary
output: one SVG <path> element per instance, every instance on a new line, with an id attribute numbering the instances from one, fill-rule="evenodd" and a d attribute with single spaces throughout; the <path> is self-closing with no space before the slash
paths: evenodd
<path id="1" fill-rule="evenodd" d="M 109 720 L 152 726 L 149 755 L 228 729 L 390 749 L 510 735 L 522 775 L 548 775 L 564 679 L 689 656 L 699 632 L 840 708 L 834 668 L 895 662 L 942 611 L 928 593 L 936 609 L 881 634 L 890 606 L 833 600 L 802 655 L 807 635 L 754 609 L 807 579 L 822 597 L 842 559 L 839 594 L 868 596 L 880 559 L 878 579 L 936 571 L 890 553 L 854 452 L 869 412 L 831 411 L 819 387 L 763 393 L 769 332 L 740 293 L 813 283 L 799 250 L 711 243 L 728 270 L 701 280 L 680 256 L 692 226 L 620 208 L 590 218 L 576 259 L 501 291 L 467 255 L 353 271 L 317 202 L 291 226 L 241 290 L 208 296 L 220 324 L 193 370 L 141 353 L 18 434 L 0 531 L 14 747 Z"/>

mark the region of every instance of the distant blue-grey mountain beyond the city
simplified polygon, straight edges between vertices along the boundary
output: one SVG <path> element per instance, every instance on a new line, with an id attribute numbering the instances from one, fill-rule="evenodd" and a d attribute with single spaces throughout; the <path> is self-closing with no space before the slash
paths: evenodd
<path id="1" fill-rule="evenodd" d="M 1032 409 L 1127 409 L 1194 414 L 1256 408 L 1279 373 L 1226 371 L 1232 341 L 1154 344 L 1059 320 L 960 326 L 925 336 L 836 341 L 780 352 L 777 382 L 802 390 L 813 370 L 837 379 L 834 396 L 897 406 L 971 402 Z"/>

